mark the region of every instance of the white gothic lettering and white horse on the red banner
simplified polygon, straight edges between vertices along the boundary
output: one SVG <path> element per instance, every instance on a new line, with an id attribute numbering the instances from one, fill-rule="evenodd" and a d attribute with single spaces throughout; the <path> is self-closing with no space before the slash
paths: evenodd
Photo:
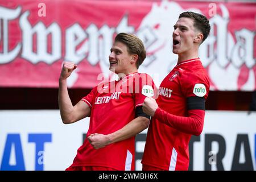
<path id="1" fill-rule="evenodd" d="M 254 90 L 255 32 L 243 28 L 235 30 L 236 37 L 233 37 L 228 30 L 229 11 L 224 5 L 219 6 L 221 14 L 216 14 L 209 19 L 212 30 L 208 39 L 201 45 L 199 54 L 204 67 L 208 70 L 212 83 L 211 89 Z M 0 22 L 3 22 L 0 24 L 2 25 L 0 40 L 2 39 L 3 42 L 0 64 L 9 63 L 19 55 L 33 64 L 39 61 L 52 64 L 60 59 L 78 64 L 86 60 L 91 65 L 100 63 L 101 71 L 108 75 L 108 56 L 113 44 L 113 36 L 118 32 L 128 32 L 138 35 L 146 46 L 147 58 L 141 65 L 140 71 L 150 75 L 157 72 L 159 80 L 171 71 L 177 61 L 177 55 L 171 51 L 171 34 L 179 14 L 183 11 L 201 13 L 199 9 L 183 9 L 176 2 L 162 1 L 160 5 L 152 3 L 152 9 L 144 16 L 137 30 L 128 24 L 129 14 L 122 17 L 117 27 L 109 27 L 107 24 L 98 27 L 91 23 L 85 28 L 79 23 L 74 23 L 64 29 L 59 26 L 58 22 L 53 22 L 46 27 L 43 22 L 39 21 L 31 26 L 28 20 L 30 11 L 21 13 L 21 10 L 20 6 L 16 9 L 0 6 Z M 9 49 L 9 24 L 17 18 L 19 18 L 22 40 L 13 49 Z M 65 40 L 61 40 L 63 37 L 61 30 L 65 34 Z M 51 42 L 47 38 L 49 35 L 51 35 Z M 33 42 L 33 36 L 36 36 L 36 42 Z M 62 42 L 65 42 L 63 47 L 61 47 Z M 52 48 L 51 51 L 47 50 L 48 46 Z M 36 51 L 33 51 L 33 47 L 36 47 Z M 61 57 L 61 52 L 64 52 L 64 57 Z M 249 76 L 243 84 L 239 85 L 241 68 L 244 66 Z"/>

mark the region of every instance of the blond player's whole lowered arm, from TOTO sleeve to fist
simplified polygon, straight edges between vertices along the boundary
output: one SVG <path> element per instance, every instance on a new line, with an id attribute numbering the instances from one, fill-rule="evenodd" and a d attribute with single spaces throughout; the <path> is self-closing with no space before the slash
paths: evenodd
<path id="1" fill-rule="evenodd" d="M 157 88 L 149 75 L 143 73 L 137 74 L 135 77 L 136 78 L 134 78 L 133 82 L 135 119 L 114 133 L 108 135 L 97 133 L 90 135 L 88 140 L 95 149 L 134 137 L 138 133 L 141 133 L 144 129 L 147 129 L 150 122 L 150 115 L 143 112 L 142 104 L 146 97 L 152 97 L 157 93 Z"/>

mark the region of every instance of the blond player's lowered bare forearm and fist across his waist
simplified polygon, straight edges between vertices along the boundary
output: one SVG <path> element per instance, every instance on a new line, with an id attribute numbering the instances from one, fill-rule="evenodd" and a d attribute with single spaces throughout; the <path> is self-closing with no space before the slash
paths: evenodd
<path id="1" fill-rule="evenodd" d="M 145 117 L 137 117 L 133 121 L 129 122 L 127 125 L 115 131 L 114 133 L 104 135 L 104 134 L 91 134 L 88 137 L 90 144 L 95 149 L 102 148 L 108 144 L 119 142 L 131 137 L 134 137 L 138 133 L 141 133 L 144 129 L 148 127 L 149 119 Z"/>

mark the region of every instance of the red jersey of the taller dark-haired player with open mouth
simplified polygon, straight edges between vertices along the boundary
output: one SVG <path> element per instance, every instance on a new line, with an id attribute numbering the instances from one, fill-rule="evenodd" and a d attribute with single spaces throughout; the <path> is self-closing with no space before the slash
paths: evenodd
<path id="1" fill-rule="evenodd" d="M 158 90 L 158 106 L 177 116 L 188 116 L 187 98 L 209 93 L 209 78 L 199 58 L 183 61 L 164 78 Z M 187 170 L 191 134 L 152 118 L 148 127 L 142 164 L 164 170 Z"/>

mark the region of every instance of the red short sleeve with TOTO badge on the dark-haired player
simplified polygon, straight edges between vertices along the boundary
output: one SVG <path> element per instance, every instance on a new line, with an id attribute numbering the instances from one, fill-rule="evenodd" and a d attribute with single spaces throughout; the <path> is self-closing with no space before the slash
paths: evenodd
<path id="1" fill-rule="evenodd" d="M 207 100 L 209 94 L 209 77 L 202 69 L 197 72 L 183 73 L 180 78 L 180 89 L 188 97 L 202 97 Z"/>

